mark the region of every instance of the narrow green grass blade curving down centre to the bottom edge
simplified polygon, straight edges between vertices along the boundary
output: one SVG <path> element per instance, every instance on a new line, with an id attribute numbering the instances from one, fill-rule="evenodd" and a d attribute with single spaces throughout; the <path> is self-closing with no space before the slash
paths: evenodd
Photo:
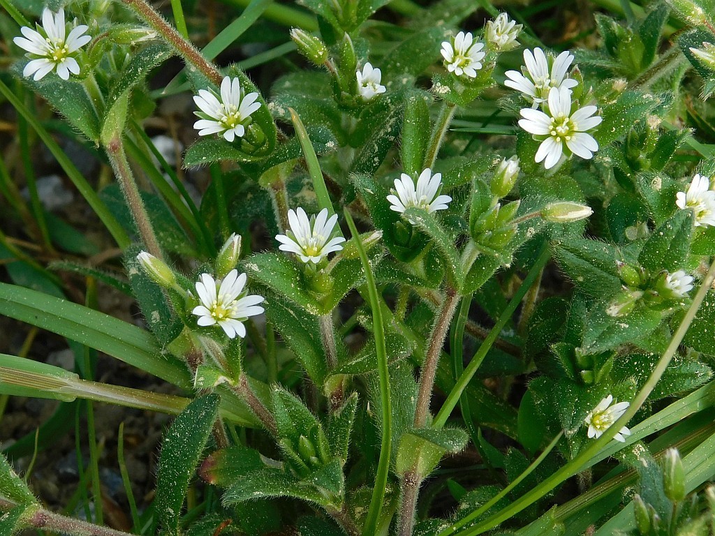
<path id="1" fill-rule="evenodd" d="M 360 240 L 360 233 L 355 228 L 355 222 L 350 217 L 350 212 L 344 212 L 347 227 L 355 239 L 355 247 L 360 254 L 360 262 L 365 270 L 365 286 L 368 287 L 370 297 L 370 309 L 373 312 L 373 334 L 375 336 L 375 355 L 378 359 L 378 376 L 380 378 L 380 405 L 382 407 L 382 443 L 380 446 L 380 460 L 378 461 L 378 472 L 375 475 L 375 487 L 373 487 L 373 497 L 370 500 L 368 515 L 365 517 L 363 525 L 363 536 L 373 536 L 377 530 L 380 512 L 385 502 L 385 488 L 388 485 L 388 470 L 390 469 L 390 455 L 392 452 L 392 422 L 393 410 L 390 400 L 390 370 L 388 369 L 388 354 L 385 347 L 385 324 L 383 322 L 383 309 L 381 306 L 378 286 L 375 284 L 375 275 L 370 267 L 370 259 L 365 252 L 363 242 Z"/>

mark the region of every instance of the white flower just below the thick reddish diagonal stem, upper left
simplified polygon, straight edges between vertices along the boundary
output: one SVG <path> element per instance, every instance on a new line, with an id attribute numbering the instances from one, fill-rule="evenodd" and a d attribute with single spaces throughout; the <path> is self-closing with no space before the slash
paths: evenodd
<path id="1" fill-rule="evenodd" d="M 199 94 L 194 95 L 194 102 L 201 111 L 194 111 L 199 119 L 194 123 L 194 129 L 199 131 L 199 136 L 209 134 L 223 134 L 227 142 L 233 142 L 236 137 L 243 137 L 246 132 L 250 115 L 261 107 L 256 102 L 258 94 L 249 93 L 241 96 L 241 84 L 237 78 L 225 76 L 221 81 L 221 100 L 213 91 L 199 89 Z"/>

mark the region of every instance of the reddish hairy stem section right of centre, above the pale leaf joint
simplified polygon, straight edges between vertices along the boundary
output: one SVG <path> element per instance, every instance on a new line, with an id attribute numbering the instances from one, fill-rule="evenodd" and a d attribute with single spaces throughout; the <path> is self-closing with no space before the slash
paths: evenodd
<path id="1" fill-rule="evenodd" d="M 435 384 L 435 373 L 440 359 L 441 350 L 447 336 L 449 324 L 457 309 L 459 296 L 455 289 L 448 288 L 445 300 L 440 308 L 440 312 L 435 319 L 435 326 L 432 329 L 430 345 L 427 348 L 425 362 L 420 372 L 420 388 L 417 398 L 417 409 L 415 410 L 415 428 L 425 425 L 428 412 L 430 411 L 430 398 L 432 398 L 432 387 Z"/>

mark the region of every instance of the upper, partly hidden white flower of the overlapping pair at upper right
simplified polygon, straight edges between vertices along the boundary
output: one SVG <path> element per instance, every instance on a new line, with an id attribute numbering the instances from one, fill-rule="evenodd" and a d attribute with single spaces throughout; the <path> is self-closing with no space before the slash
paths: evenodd
<path id="1" fill-rule="evenodd" d="M 531 50 L 524 51 L 524 64 L 526 67 L 519 71 L 506 71 L 508 80 L 504 81 L 504 85 L 521 91 L 522 96 L 528 101 L 533 102 L 533 107 L 536 108 L 539 103 L 545 102 L 548 99 L 548 94 L 551 88 L 558 89 L 578 86 L 578 81 L 572 78 L 566 78 L 566 71 L 571 66 L 573 54 L 569 51 L 563 51 L 561 54 L 553 58 L 546 56 L 543 50 L 536 48 L 533 53 Z M 551 64 L 551 69 L 549 69 Z"/>

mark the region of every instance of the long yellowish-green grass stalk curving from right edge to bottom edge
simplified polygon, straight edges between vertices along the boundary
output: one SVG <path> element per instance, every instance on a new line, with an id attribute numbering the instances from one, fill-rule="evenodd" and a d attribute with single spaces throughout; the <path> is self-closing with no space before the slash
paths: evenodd
<path id="1" fill-rule="evenodd" d="M 541 481 L 526 495 L 523 495 L 518 500 L 508 505 L 508 507 L 503 508 L 503 510 L 497 512 L 495 515 L 488 517 L 488 519 L 484 520 L 483 522 L 480 522 L 467 530 L 461 530 L 460 532 L 458 532 L 460 536 L 473 536 L 482 534 L 487 530 L 497 527 L 502 522 L 508 520 L 510 517 L 517 514 L 518 512 L 521 512 L 521 510 L 546 495 L 546 493 L 553 490 L 553 488 L 561 484 L 561 482 L 572 477 L 573 475 L 576 475 L 576 473 L 581 471 L 583 467 L 588 464 L 588 461 L 591 460 L 592 457 L 596 456 L 598 452 L 603 449 L 603 447 L 606 447 L 606 445 L 608 445 L 608 442 L 611 442 L 611 440 L 613 440 L 613 436 L 616 435 L 616 432 L 618 432 L 618 430 L 621 430 L 621 427 L 625 426 L 628 421 L 633 418 L 633 415 L 636 415 L 636 412 L 641 409 L 641 406 L 644 404 L 644 402 L 646 402 L 646 399 L 648 399 L 649 394 L 651 394 L 653 389 L 656 387 L 656 384 L 658 383 L 659 379 L 661 379 L 661 377 L 663 376 L 663 373 L 668 368 L 668 365 L 670 364 L 671 359 L 673 358 L 675 352 L 680 346 L 680 343 L 683 341 L 683 338 L 685 337 L 685 334 L 688 331 L 691 322 L 693 322 L 693 319 L 695 318 L 695 315 L 698 312 L 701 303 L 705 299 L 706 294 L 710 289 L 710 285 L 712 284 L 714 279 L 715 260 L 710 265 L 710 268 L 708 269 L 708 272 L 703 279 L 703 282 L 701 283 L 698 292 L 693 298 L 691 306 L 681 320 L 681 323 L 679 324 L 678 329 L 676 329 L 676 332 L 673 335 L 670 344 L 666 348 L 666 351 L 663 353 L 661 359 L 659 359 L 659 362 L 653 369 L 653 372 L 651 372 L 650 377 L 648 378 L 644 386 L 641 387 L 641 390 L 638 392 L 638 394 L 636 394 L 636 397 L 633 398 L 631 405 L 628 407 L 628 410 L 623 413 L 621 418 L 614 422 L 613 425 L 608 427 L 608 430 L 606 430 L 606 432 L 603 432 L 603 435 L 601 435 L 601 437 L 598 437 L 598 439 L 591 442 L 588 447 L 581 450 L 581 452 L 579 452 L 578 455 L 573 460 L 571 460 L 571 462 L 568 462 L 568 464 L 564 465 L 559 470 L 554 472 L 553 475 L 547 477 L 546 480 Z M 448 536 L 455 534 L 455 532 L 463 526 L 464 523 L 460 521 L 450 527 L 448 530 L 443 531 L 440 536 Z"/>

